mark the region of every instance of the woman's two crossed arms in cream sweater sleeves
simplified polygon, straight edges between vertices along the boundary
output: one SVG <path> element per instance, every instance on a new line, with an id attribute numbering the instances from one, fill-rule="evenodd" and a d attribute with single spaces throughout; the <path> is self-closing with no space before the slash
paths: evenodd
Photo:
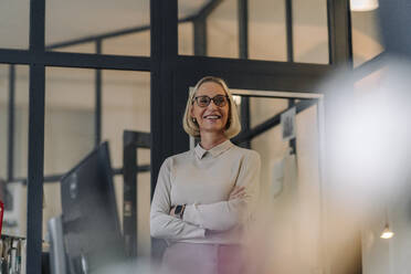
<path id="1" fill-rule="evenodd" d="M 205 230 L 226 231 L 245 222 L 255 208 L 261 166 L 256 152 L 253 151 L 247 157 L 240 168 L 235 187 L 226 201 L 188 204 L 182 220 L 173 217 L 170 202 L 170 170 L 166 160 L 159 172 L 151 204 L 151 236 L 170 240 L 204 238 Z"/>

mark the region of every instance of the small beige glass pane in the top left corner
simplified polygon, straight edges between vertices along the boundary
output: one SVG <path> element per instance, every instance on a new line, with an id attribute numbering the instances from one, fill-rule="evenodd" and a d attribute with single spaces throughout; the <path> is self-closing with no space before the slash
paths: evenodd
<path id="1" fill-rule="evenodd" d="M 0 1 L 0 49 L 29 49 L 29 2 Z"/>

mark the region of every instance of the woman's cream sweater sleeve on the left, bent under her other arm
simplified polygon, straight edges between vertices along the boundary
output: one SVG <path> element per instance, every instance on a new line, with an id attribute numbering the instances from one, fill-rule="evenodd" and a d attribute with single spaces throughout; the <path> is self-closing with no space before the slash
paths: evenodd
<path id="1" fill-rule="evenodd" d="M 162 164 L 152 197 L 150 210 L 150 234 L 167 240 L 204 238 L 204 229 L 187 223 L 169 214 L 170 202 L 170 158 Z"/>

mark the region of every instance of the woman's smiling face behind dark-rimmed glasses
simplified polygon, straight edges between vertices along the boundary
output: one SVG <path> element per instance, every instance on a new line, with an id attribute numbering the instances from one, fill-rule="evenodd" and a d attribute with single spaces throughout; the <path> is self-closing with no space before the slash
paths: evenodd
<path id="1" fill-rule="evenodd" d="M 225 105 L 218 106 L 215 105 L 214 101 L 210 101 L 208 106 L 201 107 L 198 105 L 197 101 L 199 103 L 204 103 L 208 98 L 200 96 L 209 96 L 210 98 L 214 98 L 220 102 L 223 99 L 225 101 Z M 215 96 L 219 97 L 215 98 Z M 197 101 L 194 101 L 191 107 L 191 117 L 196 118 L 197 123 L 199 124 L 200 131 L 223 133 L 225 130 L 230 109 L 229 98 L 225 96 L 226 94 L 223 87 L 218 83 L 205 82 L 200 85 L 194 96 L 194 98 L 197 97 Z"/>

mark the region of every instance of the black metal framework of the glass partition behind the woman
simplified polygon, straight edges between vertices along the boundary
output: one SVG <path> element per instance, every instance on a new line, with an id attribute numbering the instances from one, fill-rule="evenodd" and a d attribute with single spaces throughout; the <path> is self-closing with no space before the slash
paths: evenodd
<path id="1" fill-rule="evenodd" d="M 221 0 L 214 0 L 198 17 L 182 21 L 194 22 L 196 54 L 207 53 L 204 18 Z M 316 84 L 330 73 L 336 64 L 350 64 L 352 59 L 349 1 L 328 0 L 328 29 L 330 65 L 299 64 L 292 62 L 266 62 L 230 60 L 205 56 L 181 56 L 178 54 L 178 0 L 150 0 L 151 55 L 122 56 L 51 52 L 56 46 L 89 42 L 98 39 L 146 31 L 148 27 L 130 28 L 117 33 L 45 46 L 45 0 L 30 2 L 30 48 L 28 50 L 0 49 L 0 63 L 30 66 L 30 122 L 29 122 L 29 172 L 28 172 L 28 273 L 41 273 L 42 241 L 42 185 L 44 152 L 44 77 L 45 66 L 84 67 L 96 70 L 146 71 L 151 73 L 151 196 L 162 160 L 188 148 L 188 137 L 181 129 L 181 113 L 189 86 L 205 74 L 224 77 L 233 88 L 261 91 L 319 92 Z M 239 0 L 241 25 L 247 25 L 247 1 Z M 202 21 L 196 19 L 202 18 Z M 197 25 L 197 28 L 196 28 Z M 243 32 L 244 31 L 244 32 Z M 196 34 L 197 33 L 197 34 Z M 288 33 L 288 56 L 291 54 Z M 247 56 L 247 32 L 242 29 L 241 56 Z M 98 52 L 98 45 L 97 45 Z M 292 61 L 292 59 L 289 59 Z M 297 80 L 297 81 L 296 81 Z M 101 74 L 96 72 L 96 83 Z M 96 110 L 101 113 L 101 86 L 96 84 Z M 98 116 L 98 115 L 97 115 Z M 99 141 L 99 118 L 96 116 L 96 144 Z M 10 128 L 10 126 L 9 126 Z M 10 138 L 9 134 L 9 138 Z M 11 140 L 12 143 L 12 140 Z M 9 146 L 10 147 L 10 146 Z M 10 152 L 9 152 L 10 154 Z M 10 156 L 8 156 L 10 157 Z M 9 169 L 10 170 L 10 169 Z M 120 169 L 117 170 L 120 172 Z M 10 175 L 10 171 L 9 171 Z M 12 172 L 11 172 L 12 175 Z M 55 178 L 54 178 L 55 179 Z"/>

